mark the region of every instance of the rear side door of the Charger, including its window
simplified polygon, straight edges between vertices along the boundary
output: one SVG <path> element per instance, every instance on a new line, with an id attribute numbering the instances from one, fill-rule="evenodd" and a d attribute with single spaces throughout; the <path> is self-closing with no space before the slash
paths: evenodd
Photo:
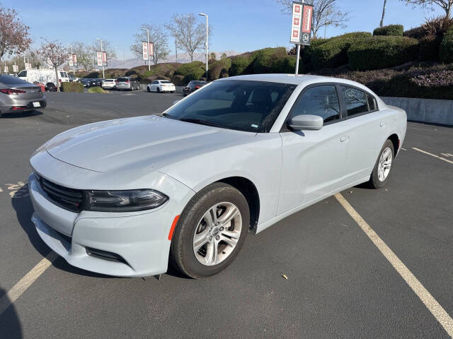
<path id="1" fill-rule="evenodd" d="M 348 155 L 345 158 L 348 182 L 368 177 L 386 140 L 386 113 L 380 112 L 371 93 L 352 85 L 338 86 L 343 101 Z"/>

